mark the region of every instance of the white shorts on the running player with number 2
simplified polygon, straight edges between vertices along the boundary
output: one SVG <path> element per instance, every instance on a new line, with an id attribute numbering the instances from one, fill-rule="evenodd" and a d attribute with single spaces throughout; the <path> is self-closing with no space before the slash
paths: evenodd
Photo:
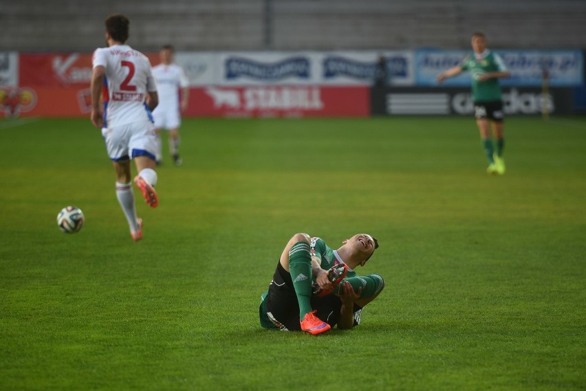
<path id="1" fill-rule="evenodd" d="M 137 156 L 155 159 L 157 137 L 150 121 L 102 128 L 108 156 L 113 161 L 129 160 Z"/>

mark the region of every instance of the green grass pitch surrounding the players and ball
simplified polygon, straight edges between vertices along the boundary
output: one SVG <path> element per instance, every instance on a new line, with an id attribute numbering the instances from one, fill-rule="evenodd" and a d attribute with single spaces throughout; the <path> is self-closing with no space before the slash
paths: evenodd
<path id="1" fill-rule="evenodd" d="M 506 134 L 489 177 L 471 118 L 184 120 L 134 243 L 89 120 L 1 120 L 0 390 L 584 390 L 586 120 Z M 360 326 L 260 328 L 296 232 L 378 238 Z"/>

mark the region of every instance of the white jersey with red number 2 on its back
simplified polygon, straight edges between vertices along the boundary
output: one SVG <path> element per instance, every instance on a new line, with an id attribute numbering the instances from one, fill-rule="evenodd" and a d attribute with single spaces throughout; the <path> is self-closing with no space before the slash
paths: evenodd
<path id="1" fill-rule="evenodd" d="M 157 82 L 149 58 L 129 45 L 96 49 L 93 67 L 105 67 L 107 126 L 151 120 L 145 100 L 147 91 L 157 91 Z"/>

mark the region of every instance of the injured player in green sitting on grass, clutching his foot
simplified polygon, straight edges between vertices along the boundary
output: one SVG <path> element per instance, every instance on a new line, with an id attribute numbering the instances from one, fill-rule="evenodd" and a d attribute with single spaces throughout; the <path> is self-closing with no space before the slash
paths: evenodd
<path id="1" fill-rule="evenodd" d="M 269 289 L 261 295 L 261 326 L 320 334 L 360 324 L 362 308 L 384 288 L 378 274 L 357 276 L 378 248 L 369 234 L 357 234 L 333 250 L 321 238 L 294 234 L 283 249 Z"/>

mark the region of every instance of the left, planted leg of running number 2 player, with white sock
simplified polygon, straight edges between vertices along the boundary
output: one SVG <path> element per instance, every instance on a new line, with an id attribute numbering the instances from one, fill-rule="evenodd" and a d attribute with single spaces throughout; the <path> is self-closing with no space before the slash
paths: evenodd
<path id="1" fill-rule="evenodd" d="M 130 181 L 130 161 L 113 161 L 116 170 L 116 198 L 130 227 L 130 234 L 134 241 L 142 239 L 142 220 L 136 216 L 134 193 Z"/>

